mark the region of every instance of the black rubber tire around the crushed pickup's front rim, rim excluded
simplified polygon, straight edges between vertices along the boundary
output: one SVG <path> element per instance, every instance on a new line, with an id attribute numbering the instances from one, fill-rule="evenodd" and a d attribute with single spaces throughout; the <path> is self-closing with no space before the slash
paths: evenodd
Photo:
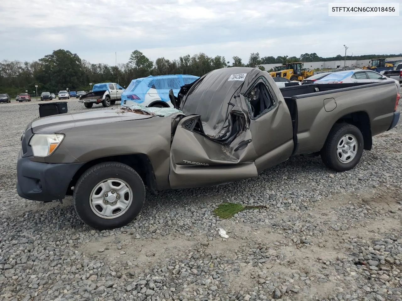
<path id="1" fill-rule="evenodd" d="M 109 178 L 125 181 L 133 192 L 133 200 L 123 215 L 107 219 L 101 218 L 92 211 L 90 194 L 99 182 Z M 99 230 L 114 229 L 129 224 L 138 216 L 144 205 L 145 187 L 138 173 L 128 165 L 118 162 L 105 162 L 84 172 L 75 185 L 73 198 L 74 208 L 82 222 Z"/>

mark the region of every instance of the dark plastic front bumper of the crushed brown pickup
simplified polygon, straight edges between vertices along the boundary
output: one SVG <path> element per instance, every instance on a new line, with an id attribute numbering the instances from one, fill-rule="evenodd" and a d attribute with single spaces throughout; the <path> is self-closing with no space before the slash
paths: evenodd
<path id="1" fill-rule="evenodd" d="M 68 185 L 84 163 L 42 163 L 18 156 L 17 192 L 31 201 L 64 199 Z"/>

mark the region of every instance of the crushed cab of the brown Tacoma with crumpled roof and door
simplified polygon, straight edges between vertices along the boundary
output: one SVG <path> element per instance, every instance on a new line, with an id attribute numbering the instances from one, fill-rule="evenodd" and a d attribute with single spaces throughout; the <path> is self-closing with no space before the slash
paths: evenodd
<path id="1" fill-rule="evenodd" d="M 236 68 L 230 69 L 236 72 Z M 240 76 L 233 71 L 222 74 L 221 70 L 219 77 L 223 78 L 211 71 L 189 89 L 182 101 L 187 116 L 178 123 L 170 149 L 171 188 L 256 177 L 258 172 L 291 156 L 291 116 L 275 83 L 270 84 L 262 73 L 250 74 L 247 80 L 248 74 Z M 208 94 L 203 89 L 216 89 L 221 94 Z M 195 98 L 200 96 L 211 99 L 208 108 L 199 106 Z M 213 108 L 214 104 L 219 107 Z"/>

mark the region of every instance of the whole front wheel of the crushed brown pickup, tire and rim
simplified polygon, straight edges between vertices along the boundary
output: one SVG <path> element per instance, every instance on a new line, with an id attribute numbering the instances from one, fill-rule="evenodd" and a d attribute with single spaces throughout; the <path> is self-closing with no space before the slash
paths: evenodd
<path id="1" fill-rule="evenodd" d="M 88 169 L 74 189 L 80 219 L 99 230 L 119 228 L 134 220 L 144 205 L 145 187 L 138 173 L 118 162 Z"/>

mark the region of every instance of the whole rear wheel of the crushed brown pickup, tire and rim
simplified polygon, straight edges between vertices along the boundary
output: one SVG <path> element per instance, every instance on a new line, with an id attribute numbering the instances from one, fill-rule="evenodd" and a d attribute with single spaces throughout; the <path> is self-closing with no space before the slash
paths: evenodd
<path id="1" fill-rule="evenodd" d="M 330 169 L 347 171 L 359 163 L 363 147 L 363 134 L 357 126 L 335 124 L 321 150 L 321 159 Z"/>

